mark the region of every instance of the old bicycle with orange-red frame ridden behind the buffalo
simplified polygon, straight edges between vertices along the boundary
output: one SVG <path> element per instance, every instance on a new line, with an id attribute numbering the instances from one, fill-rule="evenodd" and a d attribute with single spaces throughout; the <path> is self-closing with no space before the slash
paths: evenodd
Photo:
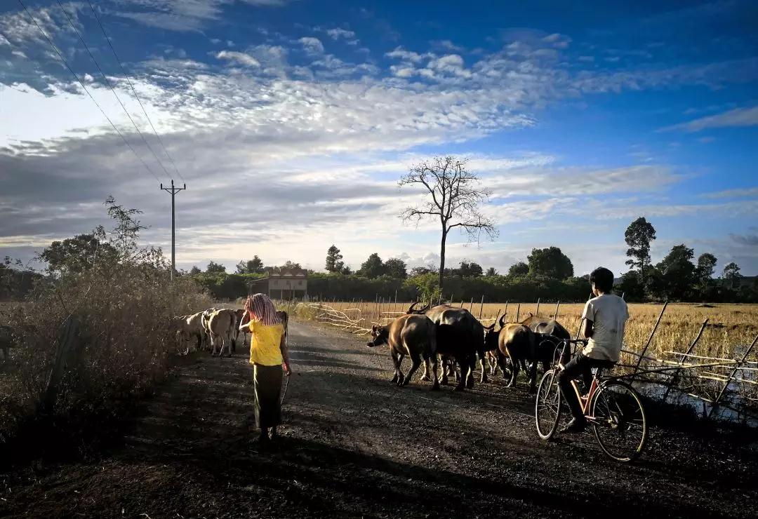
<path id="1" fill-rule="evenodd" d="M 584 339 L 563 339 L 561 354 L 553 367 L 543 374 L 537 388 L 534 419 L 537 433 L 543 440 L 550 440 L 558 429 L 564 402 L 558 386 L 558 372 L 563 369 L 562 360 L 569 344 L 586 343 Z M 556 348 L 557 351 L 557 348 Z M 647 442 L 647 417 L 640 395 L 622 377 L 603 377 L 601 368 L 594 368 L 592 383 L 586 396 L 575 380 L 571 381 L 584 417 L 592 426 L 600 449 L 616 461 L 633 461 Z"/>

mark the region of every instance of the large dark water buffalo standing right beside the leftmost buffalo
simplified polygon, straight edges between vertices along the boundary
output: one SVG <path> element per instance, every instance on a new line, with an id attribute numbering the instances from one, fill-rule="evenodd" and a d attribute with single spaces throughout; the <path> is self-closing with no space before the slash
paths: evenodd
<path id="1" fill-rule="evenodd" d="M 487 370 L 484 368 L 484 327 L 479 320 L 465 308 L 450 305 L 430 305 L 417 309 L 413 303 L 406 314 L 426 314 L 434 324 L 445 325 L 437 330 L 437 349 L 441 356 L 456 358 L 461 367 L 461 380 L 468 388 L 474 387 L 474 370 L 476 356 L 481 365 L 480 382 L 487 382 Z M 443 358 L 443 363 L 445 359 Z M 443 383 L 446 383 L 446 370 L 443 368 Z M 462 386 L 459 385 L 459 388 Z"/>

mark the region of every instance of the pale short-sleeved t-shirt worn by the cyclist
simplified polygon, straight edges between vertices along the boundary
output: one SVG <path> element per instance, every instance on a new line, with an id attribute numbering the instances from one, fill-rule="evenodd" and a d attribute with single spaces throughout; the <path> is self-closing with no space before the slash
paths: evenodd
<path id="1" fill-rule="evenodd" d="M 582 353 L 589 358 L 618 362 L 629 318 L 626 302 L 618 295 L 603 294 L 587 301 L 581 317 L 591 320 L 594 329 Z"/>

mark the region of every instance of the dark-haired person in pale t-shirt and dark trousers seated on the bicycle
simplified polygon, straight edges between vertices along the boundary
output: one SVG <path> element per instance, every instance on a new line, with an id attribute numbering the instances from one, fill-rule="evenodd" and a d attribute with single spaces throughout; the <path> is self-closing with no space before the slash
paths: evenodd
<path id="1" fill-rule="evenodd" d="M 595 297 L 587 301 L 581 314 L 581 334 L 589 340 L 558 374 L 561 393 L 573 416 L 572 421 L 562 429 L 565 433 L 579 433 L 587 427 L 587 418 L 571 381 L 584 377 L 587 382 L 585 386 L 589 388 L 592 368 L 613 367 L 619 361 L 624 327 L 629 318 L 626 302 L 612 294 L 613 273 L 610 270 L 596 268 L 590 274 L 590 283 Z"/>

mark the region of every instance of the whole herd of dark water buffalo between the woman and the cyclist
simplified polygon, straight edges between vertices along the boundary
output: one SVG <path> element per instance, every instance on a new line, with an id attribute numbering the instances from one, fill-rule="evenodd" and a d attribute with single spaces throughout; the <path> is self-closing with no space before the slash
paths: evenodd
<path id="1" fill-rule="evenodd" d="M 476 359 L 481 367 L 480 382 L 487 381 L 484 362 L 490 374 L 503 372 L 507 386 L 515 383 L 519 369 L 528 370 L 530 392 L 536 391 L 537 364 L 545 370 L 556 360 L 556 347 L 562 339 L 571 339 L 568 331 L 556 320 L 530 315 L 520 323 L 506 323 L 506 316 L 495 319 L 485 327 L 465 308 L 437 305 L 416 308 L 413 303 L 405 315 L 397 317 L 387 326 L 371 329 L 369 347 L 388 344 L 395 374 L 392 382 L 404 386 L 424 363 L 421 380 L 432 382 L 431 389 L 439 389 L 448 382 L 449 374 L 458 379 L 456 390 L 474 386 Z M 431 307 L 431 308 L 430 308 Z M 496 327 L 498 328 L 496 330 Z M 411 368 L 403 374 L 403 358 L 411 358 Z M 565 359 L 564 359 L 565 361 Z M 437 367 L 441 362 L 441 374 Z M 460 373 L 455 368 L 458 364 Z M 431 367 L 431 376 L 429 370 Z"/>

